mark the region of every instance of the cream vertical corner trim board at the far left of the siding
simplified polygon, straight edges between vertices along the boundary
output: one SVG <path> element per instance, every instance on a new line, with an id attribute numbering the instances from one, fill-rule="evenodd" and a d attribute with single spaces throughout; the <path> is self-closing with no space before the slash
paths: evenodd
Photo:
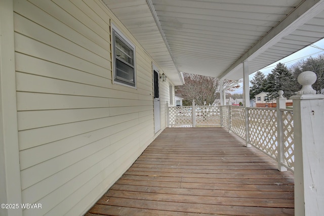
<path id="1" fill-rule="evenodd" d="M 0 203 L 9 205 L 22 202 L 16 94 L 13 1 L 1 0 Z M 19 216 L 22 214 L 20 207 L 0 208 L 0 215 L 2 216 Z"/>

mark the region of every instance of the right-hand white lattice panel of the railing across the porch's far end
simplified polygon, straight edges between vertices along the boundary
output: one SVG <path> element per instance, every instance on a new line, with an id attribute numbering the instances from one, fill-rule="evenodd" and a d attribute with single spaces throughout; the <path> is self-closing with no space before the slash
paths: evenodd
<path id="1" fill-rule="evenodd" d="M 196 124 L 199 125 L 220 125 L 221 108 L 219 106 L 197 106 Z"/>

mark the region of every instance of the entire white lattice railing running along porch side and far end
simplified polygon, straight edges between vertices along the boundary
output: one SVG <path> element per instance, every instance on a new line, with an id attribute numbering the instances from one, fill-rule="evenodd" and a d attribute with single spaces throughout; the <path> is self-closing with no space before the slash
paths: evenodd
<path id="1" fill-rule="evenodd" d="M 294 171 L 294 122 L 291 109 L 193 105 L 169 107 L 167 110 L 169 127 L 226 127 L 246 140 L 247 145 L 256 147 L 276 159 L 280 166 Z"/>

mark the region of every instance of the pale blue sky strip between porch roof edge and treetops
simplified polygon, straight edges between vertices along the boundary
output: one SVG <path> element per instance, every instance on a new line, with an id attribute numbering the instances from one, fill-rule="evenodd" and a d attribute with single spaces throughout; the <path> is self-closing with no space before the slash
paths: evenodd
<path id="1" fill-rule="evenodd" d="M 285 65 L 287 67 L 295 64 L 296 62 L 298 62 L 299 60 L 302 59 L 307 59 L 310 56 L 311 57 L 317 57 L 319 54 L 324 54 L 324 38 L 321 40 L 318 40 L 317 42 L 315 42 L 314 44 L 305 47 L 304 49 L 297 51 L 296 53 L 287 56 L 286 58 L 283 58 L 267 67 L 262 68 L 260 71 L 262 73 L 264 73 L 266 76 L 271 73 L 271 70 L 277 65 L 277 63 L 281 62 L 281 63 L 285 63 Z M 256 71 L 252 74 L 249 75 L 249 80 L 253 79 L 254 74 L 256 73 Z M 241 84 L 241 87 L 238 88 L 237 90 L 235 90 L 234 92 L 232 92 L 232 94 L 242 94 L 243 93 L 243 87 Z"/>

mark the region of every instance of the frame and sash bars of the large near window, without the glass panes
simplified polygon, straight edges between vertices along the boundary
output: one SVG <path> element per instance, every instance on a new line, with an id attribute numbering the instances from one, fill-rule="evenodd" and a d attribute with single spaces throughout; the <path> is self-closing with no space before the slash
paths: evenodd
<path id="1" fill-rule="evenodd" d="M 118 59 L 116 56 L 116 39 L 118 38 L 123 44 L 128 47 L 130 50 L 133 51 L 133 65 L 125 62 L 123 59 Z M 126 87 L 130 87 L 133 89 L 137 89 L 137 77 L 136 77 L 136 47 L 135 45 L 113 24 L 111 23 L 111 57 L 112 57 L 112 83 L 114 84 L 119 84 L 119 85 L 124 85 Z M 116 60 L 119 60 L 123 62 L 124 64 L 130 66 L 133 68 L 133 76 L 134 76 L 134 81 L 126 81 L 121 78 L 118 78 L 117 76 L 117 65 L 116 65 Z"/>

